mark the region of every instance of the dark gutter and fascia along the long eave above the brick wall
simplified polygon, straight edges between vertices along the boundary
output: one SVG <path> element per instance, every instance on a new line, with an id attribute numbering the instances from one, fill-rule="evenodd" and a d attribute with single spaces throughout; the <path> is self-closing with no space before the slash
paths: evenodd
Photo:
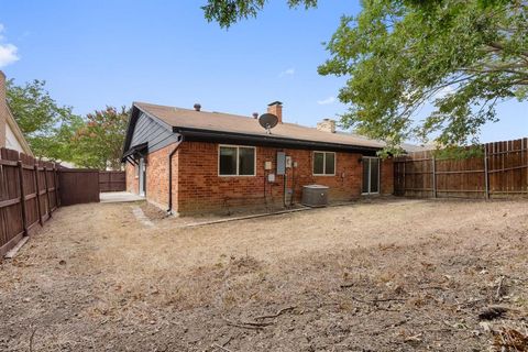
<path id="1" fill-rule="evenodd" d="M 276 146 L 276 147 L 290 147 L 290 148 L 309 148 L 321 151 L 345 151 L 358 152 L 364 154 L 374 155 L 382 147 L 374 146 L 360 146 L 351 144 L 316 142 L 307 140 L 296 140 L 279 136 L 270 135 L 255 135 L 246 133 L 223 132 L 223 131 L 210 131 L 201 129 L 188 129 L 188 128 L 173 128 L 173 132 L 179 133 L 186 136 L 187 141 L 209 142 L 209 143 L 226 143 L 237 142 L 242 145 L 263 145 L 263 146 Z"/>

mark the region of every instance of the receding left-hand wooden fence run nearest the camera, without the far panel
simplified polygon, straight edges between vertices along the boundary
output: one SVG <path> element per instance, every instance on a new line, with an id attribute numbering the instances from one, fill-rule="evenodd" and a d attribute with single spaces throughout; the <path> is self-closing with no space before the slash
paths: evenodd
<path id="1" fill-rule="evenodd" d="M 0 256 L 59 206 L 55 164 L 0 148 Z"/>

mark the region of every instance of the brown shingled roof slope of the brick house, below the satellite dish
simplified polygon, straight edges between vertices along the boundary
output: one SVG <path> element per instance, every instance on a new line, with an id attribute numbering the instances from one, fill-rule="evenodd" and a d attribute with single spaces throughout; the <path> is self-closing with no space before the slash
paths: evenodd
<path id="1" fill-rule="evenodd" d="M 375 151 L 385 146 L 382 142 L 369 140 L 356 134 L 323 132 L 295 123 L 278 123 L 272 129 L 272 133 L 268 134 L 258 124 L 258 121 L 252 117 L 196 111 L 145 102 L 134 102 L 133 106 L 146 114 L 158 119 L 166 127 L 173 128 L 174 132 L 184 135 L 190 131 L 211 134 L 222 133 L 223 135 L 238 134 L 254 140 L 265 140 L 270 143 L 296 141 L 300 144 L 309 143 L 312 147 L 317 147 L 320 144 L 321 146 L 327 146 L 327 148 L 340 146 L 341 148 L 359 147 Z M 129 147 L 130 145 L 125 145 L 125 151 Z"/>

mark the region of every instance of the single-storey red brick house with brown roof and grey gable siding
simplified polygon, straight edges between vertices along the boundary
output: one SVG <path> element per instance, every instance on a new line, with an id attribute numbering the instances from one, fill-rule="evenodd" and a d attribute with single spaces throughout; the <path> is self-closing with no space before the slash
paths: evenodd
<path id="1" fill-rule="evenodd" d="M 127 189 L 173 213 L 299 202 L 305 185 L 330 187 L 329 200 L 393 193 L 393 165 L 383 144 L 283 122 L 283 106 L 268 106 L 278 124 L 268 133 L 256 117 L 135 102 L 123 148 Z"/>

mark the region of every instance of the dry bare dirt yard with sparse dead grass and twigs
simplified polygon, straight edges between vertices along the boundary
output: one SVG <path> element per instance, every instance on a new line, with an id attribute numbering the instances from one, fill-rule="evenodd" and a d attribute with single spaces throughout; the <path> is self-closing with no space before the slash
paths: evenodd
<path id="1" fill-rule="evenodd" d="M 134 207 L 62 208 L 0 263 L 0 351 L 490 351 L 527 331 L 526 200 L 196 228 Z"/>

